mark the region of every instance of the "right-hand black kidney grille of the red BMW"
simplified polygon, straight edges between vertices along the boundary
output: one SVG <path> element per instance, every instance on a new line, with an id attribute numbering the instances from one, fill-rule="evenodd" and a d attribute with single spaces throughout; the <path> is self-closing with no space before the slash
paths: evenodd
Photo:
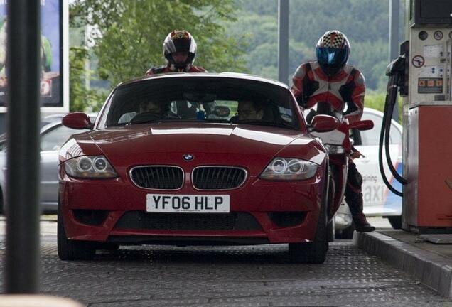
<path id="1" fill-rule="evenodd" d="M 208 166 L 195 168 L 193 186 L 199 190 L 227 190 L 238 188 L 247 173 L 242 168 Z"/>

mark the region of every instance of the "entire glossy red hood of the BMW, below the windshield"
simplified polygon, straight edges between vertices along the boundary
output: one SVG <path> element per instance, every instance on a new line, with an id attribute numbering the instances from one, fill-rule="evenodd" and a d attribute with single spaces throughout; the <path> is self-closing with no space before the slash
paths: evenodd
<path id="1" fill-rule="evenodd" d="M 151 163 L 180 164 L 185 162 L 183 154 L 195 156 L 193 165 L 248 165 L 252 161 L 269 163 L 269 158 L 282 151 L 294 158 L 315 156 L 319 151 L 315 140 L 301 131 L 272 126 L 137 124 L 79 134 L 75 136 L 79 152 L 70 156 L 104 154 L 115 167 L 126 168 Z M 70 147 L 69 143 L 65 147 Z M 293 147 L 297 150 L 284 150 Z"/>

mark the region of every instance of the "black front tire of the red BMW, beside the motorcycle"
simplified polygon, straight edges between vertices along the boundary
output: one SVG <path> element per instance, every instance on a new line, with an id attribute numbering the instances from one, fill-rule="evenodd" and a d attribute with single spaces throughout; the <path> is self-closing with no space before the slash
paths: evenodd
<path id="1" fill-rule="evenodd" d="M 326 185 L 326 184 L 325 184 Z M 321 210 L 318 213 L 316 237 L 309 243 L 289 243 L 289 258 L 294 263 L 323 264 L 328 252 L 328 220 L 327 220 L 327 195 L 323 191 Z"/>

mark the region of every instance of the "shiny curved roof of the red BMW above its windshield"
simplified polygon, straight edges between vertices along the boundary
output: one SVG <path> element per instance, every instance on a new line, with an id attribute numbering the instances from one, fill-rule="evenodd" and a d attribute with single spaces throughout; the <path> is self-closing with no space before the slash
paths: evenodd
<path id="1" fill-rule="evenodd" d="M 266 82 L 271 85 L 277 85 L 280 87 L 284 87 L 289 90 L 289 87 L 284 84 L 283 82 L 279 82 L 272 79 L 267 79 L 264 77 L 259 77 L 257 75 L 249 75 L 245 73 L 240 72 L 170 72 L 165 74 L 158 74 L 158 75 L 151 75 L 146 77 L 139 77 L 133 80 L 129 80 L 126 82 L 121 82 L 117 87 L 121 87 L 123 85 L 130 85 L 136 82 L 142 82 L 145 80 L 152 80 L 152 79 L 172 79 L 172 78 L 186 78 L 186 77 L 212 77 L 212 78 L 229 78 L 229 79 L 239 79 L 239 80 L 252 80 L 252 81 L 258 81 L 258 82 Z"/>

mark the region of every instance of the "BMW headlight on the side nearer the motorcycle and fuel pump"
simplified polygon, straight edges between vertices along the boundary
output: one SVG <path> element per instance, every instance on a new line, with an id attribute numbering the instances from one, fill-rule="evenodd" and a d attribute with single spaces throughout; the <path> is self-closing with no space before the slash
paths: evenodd
<path id="1" fill-rule="evenodd" d="M 274 158 L 259 178 L 274 181 L 299 181 L 316 174 L 317 164 L 297 158 Z"/>

